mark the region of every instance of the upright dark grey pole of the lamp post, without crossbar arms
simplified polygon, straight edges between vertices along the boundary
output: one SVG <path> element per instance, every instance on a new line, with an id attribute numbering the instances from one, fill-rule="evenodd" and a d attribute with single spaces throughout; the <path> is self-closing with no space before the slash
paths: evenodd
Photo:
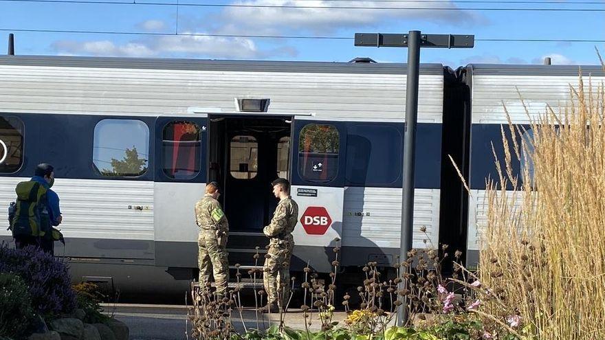
<path id="1" fill-rule="evenodd" d="M 414 167 L 416 151 L 416 121 L 418 117 L 418 80 L 420 73 L 420 31 L 410 31 L 408 34 L 408 80 L 406 82 L 406 124 L 404 135 L 404 183 L 401 202 L 401 249 L 399 260 L 408 258 L 412 249 L 412 228 L 414 218 Z M 406 280 L 400 284 L 400 289 L 408 288 Z M 399 296 L 404 304 L 397 313 L 397 325 L 408 321 L 406 297 Z"/>

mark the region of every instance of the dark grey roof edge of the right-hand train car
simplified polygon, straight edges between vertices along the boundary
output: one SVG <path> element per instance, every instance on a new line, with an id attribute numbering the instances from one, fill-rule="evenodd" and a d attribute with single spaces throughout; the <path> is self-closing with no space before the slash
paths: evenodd
<path id="1" fill-rule="evenodd" d="M 578 76 L 582 75 L 605 76 L 600 65 L 497 65 L 497 64 L 469 64 L 472 74 L 494 76 Z"/>

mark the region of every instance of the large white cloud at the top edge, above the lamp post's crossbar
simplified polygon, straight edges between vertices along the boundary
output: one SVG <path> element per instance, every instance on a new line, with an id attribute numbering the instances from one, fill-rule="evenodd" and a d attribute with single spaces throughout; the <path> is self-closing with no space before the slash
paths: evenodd
<path id="1" fill-rule="evenodd" d="M 401 3 L 380 3 L 375 1 L 296 1 L 296 0 L 241 0 L 236 5 L 265 6 L 305 6 L 314 8 L 227 8 L 219 14 L 219 23 L 205 20 L 207 27 L 225 34 L 283 34 L 285 30 L 297 32 L 326 33 L 347 27 L 371 27 L 385 21 L 432 21 L 435 23 L 456 23 L 466 25 L 483 22 L 482 16 L 460 10 L 453 3 L 427 3 L 411 1 Z M 322 9 L 325 7 L 369 8 Z M 426 10 L 383 10 L 372 8 L 427 8 Z M 432 10 L 430 8 L 450 8 Z"/>

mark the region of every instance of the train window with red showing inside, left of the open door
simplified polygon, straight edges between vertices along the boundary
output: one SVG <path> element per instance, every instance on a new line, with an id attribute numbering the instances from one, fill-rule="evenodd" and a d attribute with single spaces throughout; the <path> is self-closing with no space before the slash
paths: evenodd
<path id="1" fill-rule="evenodd" d="M 162 170 L 172 179 L 192 179 L 199 173 L 200 129 L 192 122 L 171 122 L 162 133 Z"/>

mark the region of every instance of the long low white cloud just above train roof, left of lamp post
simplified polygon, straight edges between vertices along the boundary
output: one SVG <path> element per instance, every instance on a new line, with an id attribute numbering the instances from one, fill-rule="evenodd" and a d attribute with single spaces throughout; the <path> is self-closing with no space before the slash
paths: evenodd
<path id="1" fill-rule="evenodd" d="M 183 32 L 182 34 L 191 34 Z M 51 48 L 58 54 L 88 56 L 166 57 L 193 56 L 205 58 L 267 58 L 296 56 L 293 47 L 259 49 L 248 38 L 216 36 L 158 36 L 122 45 L 111 41 L 55 41 Z"/>

